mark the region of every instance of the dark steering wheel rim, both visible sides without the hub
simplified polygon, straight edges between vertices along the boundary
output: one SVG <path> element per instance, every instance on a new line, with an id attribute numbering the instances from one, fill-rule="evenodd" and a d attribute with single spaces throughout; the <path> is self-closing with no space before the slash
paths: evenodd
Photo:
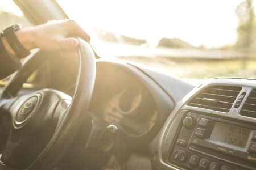
<path id="1" fill-rule="evenodd" d="M 57 123 L 57 128 L 53 133 L 46 147 L 27 169 L 52 169 L 59 162 L 65 151 L 72 144 L 76 137 L 76 132 L 82 124 L 83 117 L 88 110 L 90 98 L 96 77 L 95 56 L 90 45 L 84 40 L 79 40 L 79 72 L 77 74 L 75 93 L 71 104 L 65 115 Z M 39 50 L 36 55 L 31 56 L 22 68 L 10 79 L 10 82 L 3 90 L 1 100 L 9 100 L 16 96 L 24 81 L 36 70 L 36 68 L 48 57 L 50 52 Z M 51 55 L 50 55 L 51 54 Z M 75 123 L 74 123 L 75 122 Z M 1 169 L 1 166 L 0 166 Z"/>

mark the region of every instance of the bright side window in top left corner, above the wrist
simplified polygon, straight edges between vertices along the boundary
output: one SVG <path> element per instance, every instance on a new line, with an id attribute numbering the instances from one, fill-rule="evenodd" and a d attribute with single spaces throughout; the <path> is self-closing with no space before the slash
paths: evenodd
<path id="1" fill-rule="evenodd" d="M 17 23 L 22 24 L 23 27 L 31 25 L 12 0 L 0 1 L 0 31 Z"/>

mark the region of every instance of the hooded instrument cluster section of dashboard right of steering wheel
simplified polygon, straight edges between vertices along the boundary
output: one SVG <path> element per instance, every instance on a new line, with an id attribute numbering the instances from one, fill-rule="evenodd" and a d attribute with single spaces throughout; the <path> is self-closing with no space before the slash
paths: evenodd
<path id="1" fill-rule="evenodd" d="M 122 60 L 100 59 L 90 112 L 121 128 L 129 145 L 144 146 L 178 102 L 179 98 L 171 94 L 180 91 L 182 97 L 192 90 L 191 85 L 173 79 L 174 88 L 166 92 L 160 80 L 167 80 L 166 76 L 152 75 L 150 70 Z"/>

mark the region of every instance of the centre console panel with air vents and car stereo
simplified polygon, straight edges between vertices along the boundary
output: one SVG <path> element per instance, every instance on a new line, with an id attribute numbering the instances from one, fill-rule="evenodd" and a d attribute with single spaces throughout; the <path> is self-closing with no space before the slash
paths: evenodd
<path id="1" fill-rule="evenodd" d="M 167 118 L 155 166 L 256 169 L 255 84 L 249 79 L 209 79 L 191 91 Z"/>

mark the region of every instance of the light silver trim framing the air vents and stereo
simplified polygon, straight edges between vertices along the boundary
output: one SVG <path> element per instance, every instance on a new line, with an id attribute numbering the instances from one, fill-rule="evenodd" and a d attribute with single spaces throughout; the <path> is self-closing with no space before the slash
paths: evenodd
<path id="1" fill-rule="evenodd" d="M 209 109 L 203 109 L 203 108 L 196 108 L 196 107 L 190 107 L 187 105 L 188 101 L 191 100 L 193 97 L 195 97 L 199 92 L 209 86 L 212 85 L 227 85 L 227 86 L 241 86 L 243 89 L 241 90 L 240 94 L 246 90 L 247 94 L 245 96 L 245 99 L 243 99 L 240 107 L 236 110 L 236 113 L 232 109 L 230 109 L 230 112 L 219 112 L 219 111 L 211 111 Z M 245 117 L 239 115 L 239 112 L 245 103 L 247 97 L 249 96 L 251 90 L 256 88 L 255 80 L 247 80 L 247 79 L 208 79 L 205 80 L 203 84 L 201 84 L 199 87 L 194 88 L 187 96 L 183 98 L 183 100 L 177 104 L 177 107 L 172 111 L 170 116 L 167 118 L 166 123 L 163 126 L 162 133 L 160 134 L 160 139 L 158 143 L 158 149 L 157 149 L 157 158 L 154 162 L 154 164 L 160 168 L 160 169 L 177 169 L 174 165 L 167 164 L 164 162 L 163 158 L 163 145 L 166 140 L 166 135 L 168 133 L 168 129 L 170 129 L 170 126 L 172 125 L 172 122 L 175 120 L 175 118 L 178 116 L 179 112 L 183 109 L 189 109 L 192 111 L 200 111 L 205 112 L 212 115 L 222 116 L 226 118 L 232 118 L 233 120 L 243 121 L 243 122 L 250 122 L 251 124 L 255 124 L 255 118 Z M 174 129 L 175 131 L 175 129 Z M 174 142 L 174 141 L 173 141 Z M 171 144 L 170 144 L 171 146 Z"/>

